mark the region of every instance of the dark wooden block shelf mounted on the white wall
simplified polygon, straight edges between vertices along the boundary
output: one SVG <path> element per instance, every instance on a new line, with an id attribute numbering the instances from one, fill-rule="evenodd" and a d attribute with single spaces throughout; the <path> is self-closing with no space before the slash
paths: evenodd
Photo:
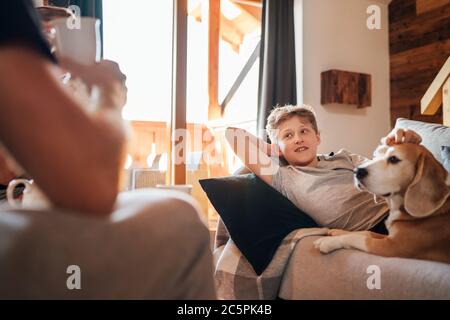
<path id="1" fill-rule="evenodd" d="M 358 108 L 372 105 L 371 76 L 342 70 L 328 70 L 321 74 L 321 104 L 339 103 Z"/>

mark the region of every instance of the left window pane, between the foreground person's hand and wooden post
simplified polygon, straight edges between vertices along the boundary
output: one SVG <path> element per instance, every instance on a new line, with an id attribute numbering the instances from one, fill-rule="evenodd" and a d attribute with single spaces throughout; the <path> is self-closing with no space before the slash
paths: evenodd
<path id="1" fill-rule="evenodd" d="M 133 130 L 128 161 L 133 168 L 167 172 L 172 4 L 103 0 L 104 57 L 117 61 L 127 75 L 128 101 L 122 115 Z"/>

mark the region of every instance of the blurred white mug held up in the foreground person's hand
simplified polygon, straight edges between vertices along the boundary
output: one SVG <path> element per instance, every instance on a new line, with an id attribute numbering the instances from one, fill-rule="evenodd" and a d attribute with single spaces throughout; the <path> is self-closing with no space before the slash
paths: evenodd
<path id="1" fill-rule="evenodd" d="M 58 18 L 55 28 L 56 56 L 84 65 L 100 61 L 100 20 L 92 17 Z"/>

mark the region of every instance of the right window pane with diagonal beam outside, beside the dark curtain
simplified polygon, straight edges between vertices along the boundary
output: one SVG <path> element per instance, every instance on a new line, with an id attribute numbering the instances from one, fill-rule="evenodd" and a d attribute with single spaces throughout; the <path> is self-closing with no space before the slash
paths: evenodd
<path id="1" fill-rule="evenodd" d="M 207 0 L 188 2 L 187 121 L 201 128 L 201 148 L 191 151 L 203 155 L 196 158 L 200 161 L 198 170 L 188 170 L 187 182 L 194 186 L 194 196 L 214 225 L 217 214 L 208 204 L 198 180 L 227 176 L 242 166 L 228 149 L 224 137 L 226 127 L 236 126 L 256 133 L 259 59 L 254 53 L 259 53 L 255 49 L 261 40 L 262 5 L 260 1 L 221 0 L 218 11 L 211 13 L 214 9 L 210 8 L 210 3 Z M 210 28 L 214 24 L 218 24 L 220 30 L 215 44 L 210 42 Z M 214 45 L 217 48 L 211 48 Z M 218 52 L 217 57 L 215 52 Z M 243 73 L 247 65 L 248 70 Z M 214 76 L 217 83 L 214 83 Z M 217 92 L 212 92 L 215 85 Z M 231 97 L 233 87 L 238 89 Z M 211 97 L 214 96 L 218 105 L 223 105 L 227 96 L 231 97 L 219 117 L 211 116 L 214 103 Z M 194 144 L 193 141 L 190 144 Z"/>

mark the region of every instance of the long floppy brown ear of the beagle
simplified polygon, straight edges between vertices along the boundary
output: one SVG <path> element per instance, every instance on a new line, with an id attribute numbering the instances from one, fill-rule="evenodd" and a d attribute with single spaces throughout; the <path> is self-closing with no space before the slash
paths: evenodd
<path id="1" fill-rule="evenodd" d="M 431 155 L 420 154 L 416 175 L 405 193 L 405 209 L 411 216 L 426 217 L 444 204 L 450 194 L 444 181 L 446 173 Z"/>

